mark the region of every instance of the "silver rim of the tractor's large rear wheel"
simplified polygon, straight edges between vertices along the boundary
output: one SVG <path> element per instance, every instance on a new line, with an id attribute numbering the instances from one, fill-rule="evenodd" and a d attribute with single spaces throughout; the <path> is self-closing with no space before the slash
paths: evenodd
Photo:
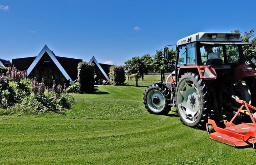
<path id="1" fill-rule="evenodd" d="M 190 79 L 184 79 L 178 87 L 178 106 L 181 117 L 187 123 L 194 123 L 200 116 L 200 90 Z"/>

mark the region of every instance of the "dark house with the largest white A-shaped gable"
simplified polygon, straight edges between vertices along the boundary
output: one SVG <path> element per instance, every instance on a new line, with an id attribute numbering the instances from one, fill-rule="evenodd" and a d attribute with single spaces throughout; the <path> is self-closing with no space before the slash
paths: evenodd
<path id="1" fill-rule="evenodd" d="M 27 70 L 28 77 L 36 77 L 45 83 L 74 84 L 77 79 L 77 65 L 81 59 L 58 57 L 45 45 L 37 57 L 13 59 L 18 70 Z"/>

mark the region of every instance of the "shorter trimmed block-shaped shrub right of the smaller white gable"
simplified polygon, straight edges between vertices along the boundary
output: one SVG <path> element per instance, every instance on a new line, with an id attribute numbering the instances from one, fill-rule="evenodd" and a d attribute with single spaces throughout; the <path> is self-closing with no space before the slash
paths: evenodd
<path id="1" fill-rule="evenodd" d="M 111 84 L 124 85 L 124 82 L 125 82 L 124 66 L 112 65 L 110 67 L 109 77 L 110 77 Z"/>

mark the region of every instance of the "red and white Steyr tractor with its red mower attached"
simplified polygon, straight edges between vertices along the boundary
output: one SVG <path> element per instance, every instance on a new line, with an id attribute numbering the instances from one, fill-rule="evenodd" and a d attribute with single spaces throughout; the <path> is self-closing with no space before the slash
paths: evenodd
<path id="1" fill-rule="evenodd" d="M 243 54 L 243 46 L 252 44 L 241 42 L 240 33 L 199 32 L 178 40 L 177 45 L 165 46 L 166 58 L 168 47 L 176 47 L 176 58 L 171 60 L 174 71 L 165 83 L 147 87 L 143 97 L 145 108 L 149 113 L 165 115 L 171 107 L 176 107 L 184 125 L 206 129 L 214 140 L 233 146 L 254 145 L 256 59 L 246 61 Z M 209 58 L 208 47 L 215 58 Z M 247 123 L 246 127 L 234 123 L 248 118 L 252 123 Z M 242 131 L 232 132 L 232 127 Z M 250 136 L 246 135 L 248 132 Z M 222 136 L 228 137 L 219 138 Z M 230 142 L 229 138 L 239 142 L 242 138 L 244 143 Z"/>

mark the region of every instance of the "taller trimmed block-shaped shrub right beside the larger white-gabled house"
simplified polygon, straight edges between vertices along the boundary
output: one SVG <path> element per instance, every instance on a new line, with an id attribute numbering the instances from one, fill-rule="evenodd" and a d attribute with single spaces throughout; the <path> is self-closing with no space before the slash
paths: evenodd
<path id="1" fill-rule="evenodd" d="M 94 91 L 94 67 L 94 63 L 78 63 L 77 82 L 79 93 L 91 93 Z"/>

